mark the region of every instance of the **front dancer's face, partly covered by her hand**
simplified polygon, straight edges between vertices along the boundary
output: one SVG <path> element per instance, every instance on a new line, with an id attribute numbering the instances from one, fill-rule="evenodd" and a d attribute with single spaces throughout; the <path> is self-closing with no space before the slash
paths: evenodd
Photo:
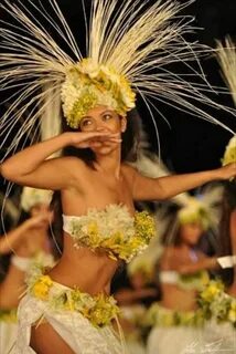
<path id="1" fill-rule="evenodd" d="M 87 112 L 79 124 L 81 132 L 107 132 L 117 134 L 120 138 L 126 131 L 126 118 L 120 117 L 115 111 L 106 106 L 97 106 Z M 104 142 L 100 146 L 92 147 L 94 153 L 107 155 L 118 148 L 118 144 Z"/>

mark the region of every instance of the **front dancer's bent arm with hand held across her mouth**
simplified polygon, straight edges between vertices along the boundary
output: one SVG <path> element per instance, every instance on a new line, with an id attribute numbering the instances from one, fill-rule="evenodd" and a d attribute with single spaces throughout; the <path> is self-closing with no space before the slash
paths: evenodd
<path id="1" fill-rule="evenodd" d="M 107 133 L 64 133 L 49 140 L 30 146 L 1 165 L 1 174 L 19 185 L 44 189 L 64 189 L 74 180 L 75 167 L 84 166 L 78 158 L 47 159 L 65 146 L 88 147 L 94 139 L 107 137 Z M 82 171 L 83 173 L 83 171 Z"/>

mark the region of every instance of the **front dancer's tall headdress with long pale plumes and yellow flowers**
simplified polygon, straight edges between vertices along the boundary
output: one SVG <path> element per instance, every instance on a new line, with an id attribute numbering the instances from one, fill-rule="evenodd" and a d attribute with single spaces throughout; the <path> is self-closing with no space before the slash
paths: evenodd
<path id="1" fill-rule="evenodd" d="M 194 0 L 157 0 L 150 7 L 141 0 L 93 0 L 89 24 L 85 21 L 85 58 L 56 0 L 46 1 L 1 3 L 12 18 L 2 21 L 0 29 L 1 88 L 17 90 L 11 97 L 14 102 L 0 119 L 2 145 L 21 122 L 8 153 L 17 149 L 22 136 L 39 124 L 50 102 L 58 97 L 67 124 L 76 128 L 83 115 L 97 104 L 125 115 L 135 106 L 138 93 L 154 124 L 152 111 L 158 107 L 153 98 L 229 129 L 195 105 L 222 108 L 205 95 L 212 88 L 197 58 L 208 49 L 184 39 L 194 28 L 192 18 L 179 12 Z M 85 8 L 84 0 L 82 3 Z M 191 67 L 193 61 L 199 71 L 197 65 Z M 186 74 L 171 72 L 170 65 L 176 62 L 186 66 L 190 80 Z M 202 82 L 191 82 L 193 76 Z M 47 88 L 42 91 L 42 86 Z"/>

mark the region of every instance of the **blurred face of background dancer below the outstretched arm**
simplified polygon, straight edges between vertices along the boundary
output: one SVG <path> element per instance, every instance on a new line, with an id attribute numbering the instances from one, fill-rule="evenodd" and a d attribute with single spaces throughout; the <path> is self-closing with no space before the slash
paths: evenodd
<path id="1" fill-rule="evenodd" d="M 181 226 L 180 237 L 182 242 L 194 246 L 199 242 L 203 233 L 203 227 L 200 222 L 189 222 Z"/>

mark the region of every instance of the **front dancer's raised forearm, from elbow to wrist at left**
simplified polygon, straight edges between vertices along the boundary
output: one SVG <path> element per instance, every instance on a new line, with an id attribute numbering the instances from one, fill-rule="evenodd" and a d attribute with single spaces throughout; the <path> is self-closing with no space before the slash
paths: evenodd
<path id="1" fill-rule="evenodd" d="M 26 147 L 22 152 L 8 158 L 1 165 L 1 174 L 7 179 L 14 179 L 14 176 L 24 176 L 35 170 L 50 155 L 69 144 L 69 135 L 66 133 L 53 137 L 43 143 Z"/>

